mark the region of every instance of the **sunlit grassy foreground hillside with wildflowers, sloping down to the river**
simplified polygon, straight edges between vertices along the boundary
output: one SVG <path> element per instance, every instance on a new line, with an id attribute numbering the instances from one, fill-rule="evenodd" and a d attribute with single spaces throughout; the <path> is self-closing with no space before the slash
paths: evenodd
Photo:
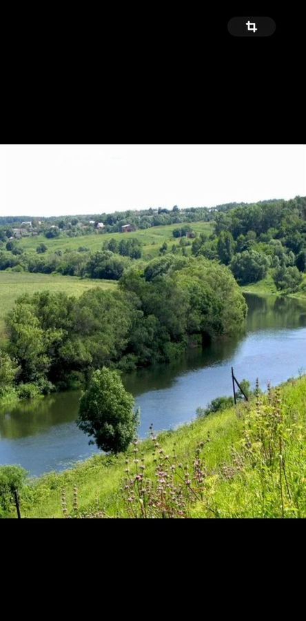
<path id="1" fill-rule="evenodd" d="M 126 455 L 99 455 L 71 471 L 46 475 L 23 495 L 23 517 L 63 517 L 63 502 L 70 517 L 129 517 L 132 511 L 139 517 L 139 464 L 145 480 L 157 480 L 155 489 L 161 490 L 153 512 L 160 511 L 161 497 L 165 513 L 179 497 L 187 517 L 306 517 L 305 406 L 304 376 L 260 397 L 257 405 L 239 404 L 146 440 Z M 123 501 L 124 477 L 134 481 L 132 489 L 128 483 L 128 495 L 135 498 L 130 504 Z"/>

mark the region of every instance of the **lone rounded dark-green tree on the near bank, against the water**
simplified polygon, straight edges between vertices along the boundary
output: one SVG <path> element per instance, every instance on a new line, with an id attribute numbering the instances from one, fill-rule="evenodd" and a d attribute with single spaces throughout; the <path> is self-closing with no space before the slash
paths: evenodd
<path id="1" fill-rule="evenodd" d="M 139 412 L 134 397 L 125 391 L 118 371 L 103 367 L 95 371 L 88 390 L 80 400 L 79 428 L 93 436 L 102 451 L 121 453 L 135 437 Z"/>

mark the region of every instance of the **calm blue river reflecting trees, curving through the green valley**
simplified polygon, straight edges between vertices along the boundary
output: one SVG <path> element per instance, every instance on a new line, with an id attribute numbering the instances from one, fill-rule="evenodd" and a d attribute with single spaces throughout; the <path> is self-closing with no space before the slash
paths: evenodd
<path id="1" fill-rule="evenodd" d="M 125 375 L 141 408 L 139 436 L 170 429 L 196 416 L 198 406 L 232 394 L 231 366 L 238 380 L 261 388 L 306 373 L 306 300 L 245 294 L 249 308 L 241 335 L 194 348 L 180 362 Z M 61 471 L 98 453 L 76 427 L 79 391 L 23 402 L 0 411 L 0 464 L 19 464 L 38 476 Z"/>

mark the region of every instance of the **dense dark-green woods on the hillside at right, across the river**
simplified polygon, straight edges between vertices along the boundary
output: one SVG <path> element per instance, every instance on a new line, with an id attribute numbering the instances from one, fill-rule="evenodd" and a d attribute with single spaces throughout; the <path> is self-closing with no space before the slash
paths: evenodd
<path id="1" fill-rule="evenodd" d="M 240 284 L 258 282 L 269 268 L 283 293 L 298 290 L 306 271 L 306 198 L 263 201 L 218 210 L 214 233 L 192 244 L 194 256 L 229 265 Z"/>

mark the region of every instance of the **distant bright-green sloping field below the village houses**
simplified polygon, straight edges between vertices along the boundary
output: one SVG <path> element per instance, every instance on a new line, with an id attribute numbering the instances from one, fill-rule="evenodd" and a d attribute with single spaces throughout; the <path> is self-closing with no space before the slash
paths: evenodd
<path id="1" fill-rule="evenodd" d="M 179 244 L 179 240 L 173 237 L 174 228 L 179 228 L 183 224 L 170 224 L 168 226 L 152 226 L 151 228 L 136 230 L 134 233 L 93 233 L 92 235 L 81 235 L 80 237 L 57 237 L 54 239 L 46 239 L 44 235 L 34 237 L 25 237 L 18 242 L 20 248 L 26 252 L 36 252 L 37 246 L 43 242 L 48 247 L 47 253 L 54 253 L 54 250 L 77 250 L 79 246 L 86 246 L 92 252 L 101 250 L 103 242 L 114 239 L 125 239 L 128 237 L 136 237 L 143 244 L 143 258 L 153 259 L 159 255 L 159 248 L 163 242 L 167 244 Z M 190 226 L 196 233 L 209 232 L 212 230 L 210 222 L 192 222 Z M 192 240 L 190 240 L 192 241 Z"/>

